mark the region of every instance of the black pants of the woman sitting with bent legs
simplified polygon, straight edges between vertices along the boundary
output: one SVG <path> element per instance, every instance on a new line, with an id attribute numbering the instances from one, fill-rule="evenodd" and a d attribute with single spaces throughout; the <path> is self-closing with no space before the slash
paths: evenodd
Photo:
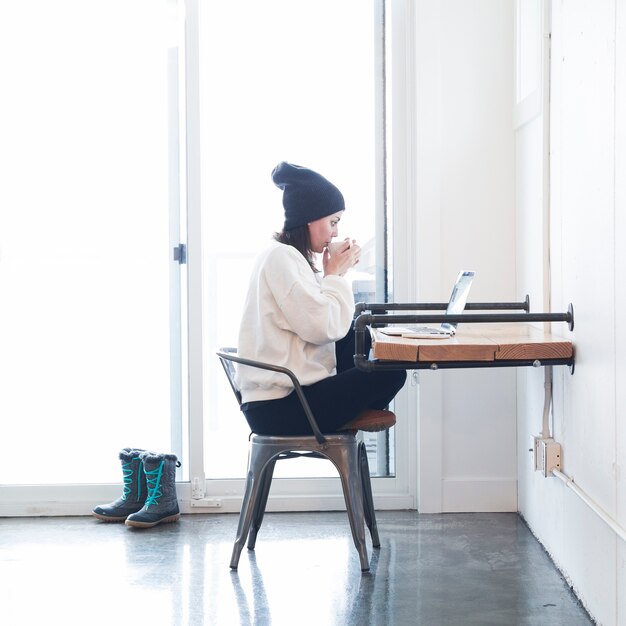
<path id="1" fill-rule="evenodd" d="M 366 354 L 370 348 L 366 333 Z M 402 389 L 405 370 L 363 372 L 354 365 L 354 330 L 335 344 L 337 375 L 303 387 L 323 433 L 337 432 L 365 409 L 384 409 Z M 243 407 L 252 432 L 259 435 L 310 435 L 311 427 L 295 392 L 279 400 Z"/>

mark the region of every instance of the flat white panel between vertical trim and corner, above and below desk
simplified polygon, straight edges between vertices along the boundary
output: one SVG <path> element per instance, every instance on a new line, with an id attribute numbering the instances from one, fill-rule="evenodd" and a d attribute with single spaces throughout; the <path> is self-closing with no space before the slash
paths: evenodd
<path id="1" fill-rule="evenodd" d="M 480 6 L 480 11 L 477 10 Z M 470 301 L 515 285 L 513 4 L 448 1 L 441 31 L 441 277 L 476 270 Z M 441 372 L 443 510 L 515 510 L 515 373 Z"/>

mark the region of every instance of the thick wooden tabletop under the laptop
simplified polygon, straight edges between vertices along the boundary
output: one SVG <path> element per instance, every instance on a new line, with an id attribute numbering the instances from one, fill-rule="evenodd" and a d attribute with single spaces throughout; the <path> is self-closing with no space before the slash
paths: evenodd
<path id="1" fill-rule="evenodd" d="M 567 359 L 572 342 L 531 324 L 459 324 L 450 339 L 391 337 L 372 329 L 375 359 L 391 361 L 498 361 Z"/>

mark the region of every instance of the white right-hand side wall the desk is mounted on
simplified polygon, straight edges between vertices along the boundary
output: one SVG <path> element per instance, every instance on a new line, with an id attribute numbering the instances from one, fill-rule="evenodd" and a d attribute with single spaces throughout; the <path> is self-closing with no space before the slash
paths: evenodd
<path id="1" fill-rule="evenodd" d="M 555 369 L 563 470 L 626 526 L 626 3 L 558 0 L 552 15 L 550 298 L 572 302 L 576 369 Z M 545 112 L 544 112 L 545 113 Z M 518 280 L 541 293 L 537 159 L 542 118 L 518 132 Z M 530 188 L 524 185 L 530 182 Z M 541 228 L 539 228 L 541 231 Z M 545 260 L 545 257 L 543 257 Z M 558 371 L 557 371 L 558 370 Z M 541 429 L 543 379 L 520 373 L 519 509 L 600 624 L 626 624 L 625 547 L 526 452 Z"/>

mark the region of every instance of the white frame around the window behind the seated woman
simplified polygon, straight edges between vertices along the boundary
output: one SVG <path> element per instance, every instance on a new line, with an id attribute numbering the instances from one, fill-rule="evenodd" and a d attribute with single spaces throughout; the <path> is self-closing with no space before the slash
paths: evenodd
<path id="1" fill-rule="evenodd" d="M 188 219 L 189 232 L 200 233 L 200 115 L 197 110 L 198 101 L 192 96 L 199 92 L 198 80 L 198 0 L 187 2 L 187 94 L 188 94 Z M 377 50 L 376 62 L 380 64 L 381 72 L 377 76 L 379 97 L 376 99 L 377 128 L 376 140 L 379 142 L 377 154 L 377 181 L 376 181 L 376 228 L 377 228 L 377 255 L 387 259 L 393 255 L 393 267 L 414 266 L 411 239 L 407 235 L 412 232 L 408 226 L 412 225 L 410 211 L 404 207 L 413 206 L 411 202 L 412 171 L 411 154 L 413 151 L 412 131 L 410 125 L 410 111 L 413 104 L 413 63 L 409 54 L 409 42 L 413 33 L 412 3 L 406 0 L 374 0 L 373 10 L 384 19 L 376 20 L 377 32 L 375 40 Z M 391 40 L 391 41 L 389 41 Z M 195 43 L 194 43 L 195 42 Z M 391 44 L 391 54 L 385 54 L 386 45 Z M 392 63 L 390 65 L 389 63 Z M 385 77 L 382 68 L 387 65 Z M 391 85 L 389 85 L 391 82 Z M 385 96 L 386 88 L 387 90 Z M 386 100 L 391 100 L 390 103 Z M 387 124 L 385 124 L 385 120 Z M 389 122 L 391 121 L 391 124 Z M 385 128 L 390 126 L 392 136 L 388 136 Z M 192 163 L 192 160 L 194 162 Z M 393 170 L 389 167 L 394 164 Z M 196 169 L 197 168 L 197 169 Z M 385 180 L 387 178 L 387 180 Z M 196 185 L 195 189 L 191 186 Z M 388 194 L 391 186 L 393 193 Z M 392 202 L 389 203 L 389 196 Z M 391 219 L 388 220 L 388 212 Z M 388 224 L 396 224 L 393 232 L 387 233 Z M 404 233 L 400 237 L 399 233 Z M 389 234 L 389 238 L 387 237 Z M 206 476 L 202 465 L 202 437 L 203 423 L 208 416 L 203 414 L 201 393 L 199 388 L 202 381 L 201 354 L 192 358 L 192 350 L 200 351 L 202 345 L 202 297 L 199 291 L 202 288 L 201 241 L 199 236 L 189 240 L 189 381 L 190 381 L 190 484 L 183 496 L 184 512 L 239 512 L 243 496 L 244 479 L 211 479 Z M 390 259 L 391 260 L 391 259 Z M 198 264 L 196 266 L 195 264 Z M 387 265 L 387 263 L 385 263 Z M 383 271 L 387 267 L 382 268 Z M 407 273 L 403 279 L 394 281 L 394 294 L 397 300 L 410 301 L 411 285 L 414 277 Z M 193 280 L 193 286 L 191 281 Z M 378 283 L 378 281 L 377 281 Z M 192 294 L 196 294 L 192 296 Z M 200 295 L 198 295 L 200 294 Z M 387 294 L 379 293 L 381 300 Z M 192 310 L 193 309 L 193 310 Z M 195 391 L 194 391 L 195 390 Z M 398 509 L 416 507 L 416 469 L 417 460 L 412 450 L 416 450 L 417 441 L 417 389 L 407 384 L 405 389 L 395 400 L 396 410 L 401 417 L 395 429 L 395 475 L 390 477 L 372 477 L 372 488 L 376 495 L 376 506 L 380 509 Z M 194 398 L 194 395 L 196 397 Z M 184 485 L 182 485 L 184 489 Z M 337 510 L 344 508 L 344 499 L 339 481 L 334 478 L 298 478 L 280 479 L 272 483 L 272 497 L 268 501 L 268 511 L 310 511 L 310 510 Z"/>

